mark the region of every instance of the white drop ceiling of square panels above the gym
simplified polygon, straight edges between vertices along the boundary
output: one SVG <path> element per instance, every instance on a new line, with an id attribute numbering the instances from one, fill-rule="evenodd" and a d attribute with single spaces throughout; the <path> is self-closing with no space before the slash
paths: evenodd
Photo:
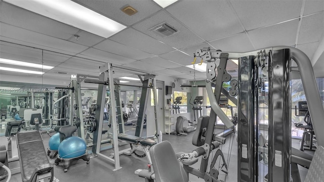
<path id="1" fill-rule="evenodd" d="M 247 52 L 288 45 L 302 50 L 311 60 L 316 53 L 312 60 L 315 73 L 324 77 L 322 0 L 180 0 L 166 8 L 152 0 L 74 2 L 127 28 L 104 38 L 1 1 L 0 57 L 55 66 L 43 70 L 47 79 L 69 80 L 75 73 L 99 75 L 99 66 L 111 62 L 192 80 L 193 70 L 185 66 L 190 65 L 197 49 Z M 138 13 L 123 13 L 120 9 L 127 5 Z M 150 30 L 164 22 L 178 32 L 163 37 Z M 74 34 L 79 35 L 77 40 Z M 234 63 L 227 69 L 237 76 Z M 20 75 L 6 71 L 0 75 L 5 74 Z M 204 79 L 205 73 L 197 71 L 196 78 Z"/>

